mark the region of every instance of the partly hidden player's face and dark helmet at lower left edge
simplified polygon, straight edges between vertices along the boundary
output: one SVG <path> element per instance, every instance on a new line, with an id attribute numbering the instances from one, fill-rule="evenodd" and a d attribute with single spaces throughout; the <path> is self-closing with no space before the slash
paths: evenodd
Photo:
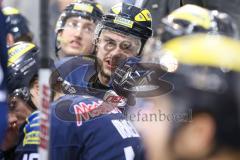
<path id="1" fill-rule="evenodd" d="M 36 109 L 32 108 L 27 99 L 29 98 L 27 88 L 16 89 L 9 97 L 8 129 L 1 145 L 2 157 L 14 159 L 15 149 L 19 139 L 19 130 L 29 115 Z"/>

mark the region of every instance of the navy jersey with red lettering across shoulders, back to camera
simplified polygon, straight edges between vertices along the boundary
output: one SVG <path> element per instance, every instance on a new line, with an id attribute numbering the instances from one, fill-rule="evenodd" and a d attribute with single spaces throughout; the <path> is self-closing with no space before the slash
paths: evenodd
<path id="1" fill-rule="evenodd" d="M 51 105 L 51 160 L 141 160 L 143 145 L 125 116 L 90 96 L 59 98 Z"/>

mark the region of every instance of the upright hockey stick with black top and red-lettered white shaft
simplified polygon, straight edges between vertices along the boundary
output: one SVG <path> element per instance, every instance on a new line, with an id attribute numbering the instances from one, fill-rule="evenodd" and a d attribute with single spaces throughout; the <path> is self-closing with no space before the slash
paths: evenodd
<path id="1" fill-rule="evenodd" d="M 41 42 L 41 68 L 39 70 L 39 88 L 40 88 L 40 145 L 39 154 L 41 160 L 49 159 L 49 134 L 50 134 L 50 87 L 49 77 L 49 46 L 48 46 L 48 0 L 40 1 L 40 42 Z"/>

